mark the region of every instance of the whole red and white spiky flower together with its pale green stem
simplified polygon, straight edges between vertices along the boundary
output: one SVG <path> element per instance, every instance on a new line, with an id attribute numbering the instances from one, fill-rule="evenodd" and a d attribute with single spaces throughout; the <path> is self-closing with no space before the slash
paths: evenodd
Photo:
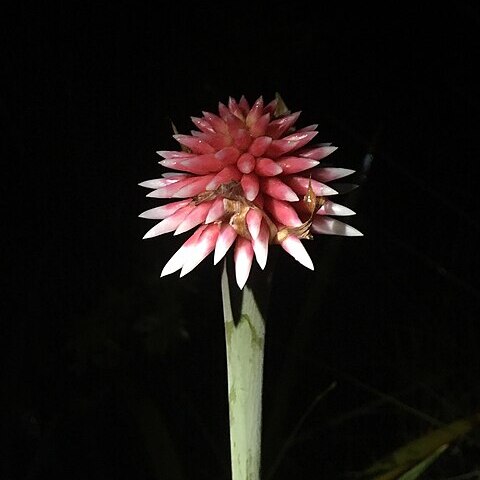
<path id="1" fill-rule="evenodd" d="M 290 112 L 277 95 L 268 104 L 245 97 L 220 103 L 218 115 L 192 117 L 197 130 L 174 134 L 179 151 L 157 152 L 160 164 L 174 172 L 140 185 L 147 196 L 177 199 L 140 216 L 161 220 L 144 238 L 168 232 L 193 234 L 170 258 L 161 276 L 191 272 L 210 253 L 217 264 L 233 248 L 235 278 L 242 290 L 241 315 L 234 319 L 228 275 L 222 277 L 234 480 L 260 475 L 261 394 L 265 322 L 247 280 L 253 258 L 263 270 L 268 249 L 280 245 L 305 267 L 313 262 L 302 240 L 314 233 L 359 236 L 334 216 L 352 215 L 330 200 L 337 191 L 327 183 L 353 173 L 317 167 L 336 150 L 313 144 L 317 125 L 300 129 L 300 112 Z"/>

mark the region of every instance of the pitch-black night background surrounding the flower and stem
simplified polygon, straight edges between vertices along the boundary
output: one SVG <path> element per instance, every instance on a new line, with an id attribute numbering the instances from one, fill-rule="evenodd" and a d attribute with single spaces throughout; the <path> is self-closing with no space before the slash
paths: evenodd
<path id="1" fill-rule="evenodd" d="M 146 5 L 2 14 L 0 478 L 230 478 L 221 267 L 160 278 L 188 234 L 138 218 L 171 122 L 229 96 L 318 123 L 364 234 L 272 255 L 264 479 L 357 478 L 478 413 L 478 5 Z M 478 430 L 422 478 L 480 478 Z"/>

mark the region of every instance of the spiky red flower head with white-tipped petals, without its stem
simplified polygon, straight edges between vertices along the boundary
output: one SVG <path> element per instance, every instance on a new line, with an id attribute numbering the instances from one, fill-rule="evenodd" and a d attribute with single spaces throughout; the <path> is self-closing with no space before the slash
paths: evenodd
<path id="1" fill-rule="evenodd" d="M 311 144 L 317 125 L 295 128 L 301 112 L 291 113 L 279 95 L 250 107 L 244 96 L 219 103 L 218 115 L 192 117 L 197 130 L 175 133 L 180 151 L 157 152 L 164 167 L 177 170 L 140 186 L 147 197 L 178 199 L 147 210 L 142 218 L 161 220 L 143 238 L 196 229 L 162 270 L 161 276 L 191 272 L 214 251 L 217 264 L 234 249 L 235 274 L 245 285 L 253 258 L 264 269 L 269 245 L 279 244 L 305 267 L 313 263 L 301 240 L 312 233 L 358 236 L 358 230 L 331 215 L 353 215 L 334 203 L 338 192 L 325 182 L 353 173 L 315 168 L 337 147 Z"/>

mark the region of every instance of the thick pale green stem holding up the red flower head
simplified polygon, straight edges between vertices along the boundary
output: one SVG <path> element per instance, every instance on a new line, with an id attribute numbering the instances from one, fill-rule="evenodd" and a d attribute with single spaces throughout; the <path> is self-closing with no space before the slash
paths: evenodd
<path id="1" fill-rule="evenodd" d="M 265 322 L 250 287 L 233 316 L 226 262 L 222 273 L 232 480 L 259 480 Z"/>

